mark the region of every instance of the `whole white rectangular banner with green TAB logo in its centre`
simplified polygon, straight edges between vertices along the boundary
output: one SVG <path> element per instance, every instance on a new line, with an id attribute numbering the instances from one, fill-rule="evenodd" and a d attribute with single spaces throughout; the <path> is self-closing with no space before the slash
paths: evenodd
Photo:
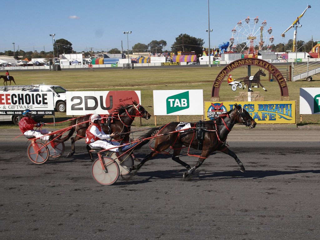
<path id="1" fill-rule="evenodd" d="M 203 90 L 154 90 L 154 115 L 203 115 Z"/>

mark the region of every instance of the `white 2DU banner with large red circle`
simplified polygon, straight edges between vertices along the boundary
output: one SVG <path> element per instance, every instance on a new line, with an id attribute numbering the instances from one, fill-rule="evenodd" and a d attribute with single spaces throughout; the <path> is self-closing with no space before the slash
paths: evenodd
<path id="1" fill-rule="evenodd" d="M 140 91 L 66 92 L 67 115 L 109 114 L 120 105 L 141 103 Z"/>

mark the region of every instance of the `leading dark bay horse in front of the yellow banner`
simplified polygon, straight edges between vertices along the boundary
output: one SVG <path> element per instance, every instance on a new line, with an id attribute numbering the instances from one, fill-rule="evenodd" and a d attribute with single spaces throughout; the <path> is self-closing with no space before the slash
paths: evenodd
<path id="1" fill-rule="evenodd" d="M 213 152 L 220 151 L 225 154 L 232 156 L 237 164 L 240 166 L 240 171 L 244 172 L 244 165 L 239 160 L 234 152 L 232 152 L 225 141 L 227 139 L 228 133 L 232 130 L 235 124 L 243 124 L 247 127 L 254 128 L 256 122 L 252 119 L 249 113 L 243 109 L 240 105 L 235 103 L 235 108 L 231 109 L 228 113 L 220 115 L 214 121 L 204 121 L 201 124 L 201 129 L 204 133 L 203 135 L 203 148 L 201 155 L 198 156 L 199 159 L 194 167 L 190 167 L 189 164 L 181 161 L 179 159 L 180 151 L 182 146 L 187 146 L 189 148 L 198 148 L 199 140 L 197 138 L 196 123 L 191 123 L 189 131 L 177 132 L 175 128 L 179 124 L 178 122 L 172 122 L 161 127 L 152 128 L 149 132 L 140 136 L 142 142 L 139 145 L 144 145 L 150 140 L 143 140 L 145 138 L 151 138 L 155 136 L 155 147 L 152 148 L 145 158 L 136 166 L 132 166 L 131 170 L 138 170 L 145 162 L 156 156 L 158 153 L 163 152 L 169 147 L 172 147 L 173 156 L 172 160 L 183 165 L 188 169 L 187 172 L 183 173 L 183 177 L 186 178 L 188 175 L 193 173 L 198 167 L 203 164 L 204 160 L 209 157 Z M 158 136 L 158 137 L 157 137 Z M 138 145 L 138 146 L 139 146 Z M 137 147 L 140 148 L 141 146 Z"/>

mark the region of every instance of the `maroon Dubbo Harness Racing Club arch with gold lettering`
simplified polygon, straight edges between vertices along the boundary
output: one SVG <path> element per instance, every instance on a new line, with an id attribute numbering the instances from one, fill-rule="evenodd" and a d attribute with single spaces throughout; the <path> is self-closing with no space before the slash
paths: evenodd
<path id="1" fill-rule="evenodd" d="M 251 65 L 268 70 L 268 72 L 270 72 L 276 78 L 279 84 L 280 94 L 281 94 L 280 100 L 289 100 L 288 86 L 281 72 L 271 63 L 265 60 L 256 59 L 256 58 L 238 59 L 228 64 L 226 67 L 224 67 L 220 71 L 216 79 L 214 80 L 214 83 L 212 86 L 212 94 L 211 94 L 212 99 L 219 100 L 219 90 L 220 90 L 221 83 L 223 79 L 226 76 L 228 76 L 229 72 L 239 67 L 243 67 L 243 66 L 250 67 Z"/>

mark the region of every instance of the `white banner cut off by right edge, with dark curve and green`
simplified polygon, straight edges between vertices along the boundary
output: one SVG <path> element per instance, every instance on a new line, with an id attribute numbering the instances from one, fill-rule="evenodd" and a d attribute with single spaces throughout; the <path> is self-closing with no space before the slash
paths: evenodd
<path id="1" fill-rule="evenodd" d="M 320 88 L 300 88 L 300 114 L 320 114 Z"/>

